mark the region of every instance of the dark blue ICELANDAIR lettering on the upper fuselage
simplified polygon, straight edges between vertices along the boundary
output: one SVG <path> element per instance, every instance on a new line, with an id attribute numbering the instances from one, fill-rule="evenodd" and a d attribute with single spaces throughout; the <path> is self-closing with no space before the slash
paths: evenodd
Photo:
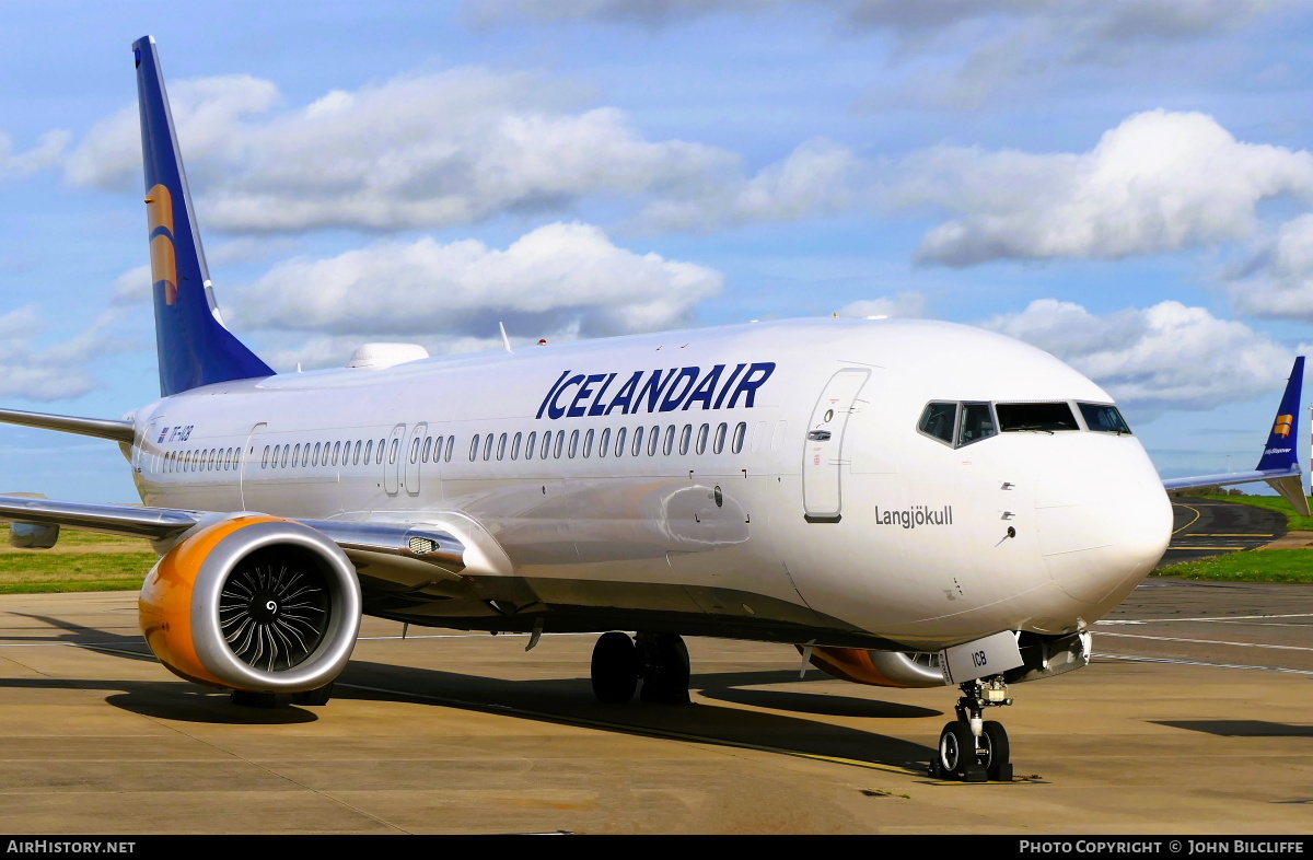
<path id="1" fill-rule="evenodd" d="M 773 361 L 735 365 L 718 364 L 701 368 L 668 370 L 634 370 L 628 377 L 618 373 L 575 373 L 566 370 L 542 398 L 537 418 L 583 418 L 584 415 L 634 415 L 635 412 L 674 412 L 699 406 L 704 410 L 751 408 L 756 390 L 775 373 Z"/>

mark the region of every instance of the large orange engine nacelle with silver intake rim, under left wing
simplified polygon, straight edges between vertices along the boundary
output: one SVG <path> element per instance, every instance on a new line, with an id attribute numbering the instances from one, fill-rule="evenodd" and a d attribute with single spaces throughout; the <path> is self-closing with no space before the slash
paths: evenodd
<path id="1" fill-rule="evenodd" d="M 323 687 L 360 630 L 356 567 L 320 532 L 239 516 L 179 542 L 138 603 L 151 651 L 175 675 L 249 692 Z"/>

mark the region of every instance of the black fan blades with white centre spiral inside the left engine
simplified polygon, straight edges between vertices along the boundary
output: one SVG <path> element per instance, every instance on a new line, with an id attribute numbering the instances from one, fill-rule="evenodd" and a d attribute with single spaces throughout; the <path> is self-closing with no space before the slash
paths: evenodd
<path id="1" fill-rule="evenodd" d="M 267 672 L 285 671 L 323 641 L 328 582 L 318 567 L 298 562 L 252 558 L 223 583 L 219 625 L 243 663 Z"/>

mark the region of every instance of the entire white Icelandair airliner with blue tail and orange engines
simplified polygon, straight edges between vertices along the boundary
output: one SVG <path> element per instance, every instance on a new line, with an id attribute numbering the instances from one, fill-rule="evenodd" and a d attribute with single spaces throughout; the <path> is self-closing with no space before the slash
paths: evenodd
<path id="1" fill-rule="evenodd" d="M 931 768 L 1008 779 L 983 720 L 1090 659 L 1167 546 L 1112 398 L 1053 356 L 926 320 L 788 320 L 280 376 L 223 326 L 155 42 L 133 45 L 160 399 L 114 440 L 146 507 L 0 496 L 13 540 L 155 541 L 140 626 L 242 704 L 326 704 L 361 613 L 597 632 L 592 684 L 687 702 L 680 635 L 780 642 L 863 684 L 960 687 Z M 1297 360 L 1263 461 L 1305 504 Z M 1191 486 L 1190 479 L 1176 486 Z M 622 633 L 637 632 L 635 634 Z"/>

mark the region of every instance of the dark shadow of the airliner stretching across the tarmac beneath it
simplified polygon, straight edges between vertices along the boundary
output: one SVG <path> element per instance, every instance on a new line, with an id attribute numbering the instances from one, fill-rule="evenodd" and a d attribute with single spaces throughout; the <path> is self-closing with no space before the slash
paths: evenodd
<path id="1" fill-rule="evenodd" d="M 71 625 L 46 616 L 26 616 L 62 629 L 45 642 L 67 642 L 123 659 L 155 662 L 139 635 L 123 635 Z M 13 637 L 11 637 L 13 638 Z M 920 768 L 930 760 L 927 746 L 850 726 L 801 716 L 767 713 L 751 708 L 788 710 L 793 714 L 909 720 L 935 717 L 941 712 L 863 697 L 826 696 L 781 689 L 751 689 L 767 684 L 809 684 L 829 680 L 819 672 L 798 679 L 796 671 L 721 672 L 693 675 L 692 687 L 701 697 L 729 702 L 721 706 L 672 706 L 634 701 L 604 705 L 592 695 L 587 677 L 509 680 L 481 675 L 352 660 L 337 680 L 334 699 L 374 701 L 421 701 L 435 706 L 478 710 L 504 717 L 584 725 L 601 731 L 678 737 L 684 741 L 755 746 L 781 752 L 834 756 L 895 767 Z M 291 725 L 312 722 L 316 710 L 299 706 L 274 709 L 239 708 L 227 696 L 180 684 L 77 679 L 0 679 L 4 688 L 118 689 L 106 701 L 137 714 L 197 723 Z M 332 706 L 331 704 L 328 705 Z M 872 726 L 876 729 L 877 726 Z"/>

